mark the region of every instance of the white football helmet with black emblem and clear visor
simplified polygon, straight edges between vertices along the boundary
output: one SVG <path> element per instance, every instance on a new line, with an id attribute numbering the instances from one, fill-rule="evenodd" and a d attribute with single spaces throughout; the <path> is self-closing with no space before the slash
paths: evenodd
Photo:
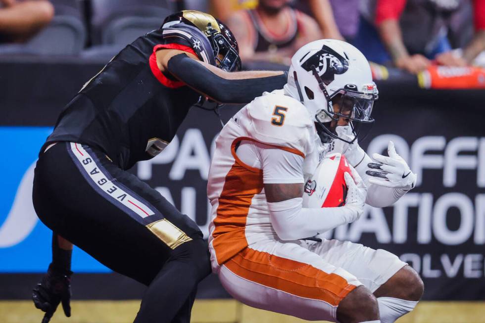
<path id="1" fill-rule="evenodd" d="M 291 58 L 286 94 L 301 101 L 328 136 L 352 143 L 356 124 L 372 123 L 372 107 L 378 98 L 369 62 L 354 46 L 333 39 L 311 42 Z M 334 111 L 332 99 L 341 94 L 340 111 Z M 350 120 L 355 137 L 339 138 L 324 123 L 339 117 Z"/>

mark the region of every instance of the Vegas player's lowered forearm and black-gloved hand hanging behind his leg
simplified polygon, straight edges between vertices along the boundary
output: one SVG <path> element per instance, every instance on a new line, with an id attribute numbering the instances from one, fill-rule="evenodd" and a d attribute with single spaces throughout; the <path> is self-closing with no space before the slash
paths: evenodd
<path id="1" fill-rule="evenodd" d="M 35 306 L 46 312 L 42 323 L 48 323 L 59 303 L 66 317 L 71 316 L 71 255 L 72 243 L 52 234 L 52 262 L 47 274 L 32 292 Z"/>

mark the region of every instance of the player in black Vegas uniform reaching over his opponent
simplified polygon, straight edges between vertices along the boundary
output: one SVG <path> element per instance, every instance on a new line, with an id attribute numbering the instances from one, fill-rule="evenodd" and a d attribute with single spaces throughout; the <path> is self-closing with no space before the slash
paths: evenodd
<path id="1" fill-rule="evenodd" d="M 121 50 L 67 104 L 42 147 L 33 200 L 53 231 L 35 305 L 70 316 L 72 243 L 148 286 L 136 323 L 189 322 L 210 273 L 194 221 L 126 170 L 174 138 L 200 96 L 247 103 L 283 88 L 283 72 L 241 69 L 233 35 L 211 15 L 181 11 Z"/>

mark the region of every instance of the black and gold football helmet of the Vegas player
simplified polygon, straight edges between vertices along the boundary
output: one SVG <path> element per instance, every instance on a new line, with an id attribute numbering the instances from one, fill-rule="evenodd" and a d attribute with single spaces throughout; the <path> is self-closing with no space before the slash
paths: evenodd
<path id="1" fill-rule="evenodd" d="M 210 14 L 197 10 L 179 11 L 165 18 L 162 28 L 167 29 L 164 36 L 189 41 L 203 61 L 229 72 L 241 70 L 236 38 L 225 24 Z M 194 32 L 195 29 L 201 33 Z M 206 48 L 209 46 L 210 49 Z"/>

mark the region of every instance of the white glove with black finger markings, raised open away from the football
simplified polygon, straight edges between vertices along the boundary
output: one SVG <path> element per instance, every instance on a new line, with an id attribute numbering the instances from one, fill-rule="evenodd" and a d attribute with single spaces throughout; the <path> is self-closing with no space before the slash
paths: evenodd
<path id="1" fill-rule="evenodd" d="M 371 178 L 369 182 L 392 188 L 410 190 L 416 185 L 416 174 L 411 172 L 408 164 L 396 152 L 394 143 L 389 141 L 388 155 L 373 154 L 372 157 L 379 163 L 369 163 L 367 166 L 381 171 L 366 171 Z"/>

